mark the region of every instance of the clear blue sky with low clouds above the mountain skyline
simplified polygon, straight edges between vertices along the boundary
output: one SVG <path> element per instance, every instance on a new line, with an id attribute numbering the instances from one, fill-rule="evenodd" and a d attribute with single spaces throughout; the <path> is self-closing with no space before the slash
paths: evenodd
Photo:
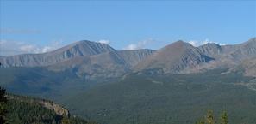
<path id="1" fill-rule="evenodd" d="M 256 37 L 255 1 L 2 1 L 0 56 L 41 53 L 79 40 L 116 50 L 240 44 Z"/>

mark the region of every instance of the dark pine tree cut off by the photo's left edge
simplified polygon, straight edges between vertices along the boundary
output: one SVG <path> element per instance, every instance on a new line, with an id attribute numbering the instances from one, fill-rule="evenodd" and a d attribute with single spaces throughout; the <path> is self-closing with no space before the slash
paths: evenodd
<path id="1" fill-rule="evenodd" d="M 7 98 L 5 97 L 5 89 L 0 86 L 0 123 L 6 123 L 4 115 L 7 113 L 6 109 Z"/>

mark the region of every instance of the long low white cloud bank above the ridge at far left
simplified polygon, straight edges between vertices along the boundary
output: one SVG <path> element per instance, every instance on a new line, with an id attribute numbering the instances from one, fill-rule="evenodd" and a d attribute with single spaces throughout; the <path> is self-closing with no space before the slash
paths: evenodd
<path id="1" fill-rule="evenodd" d="M 62 46 L 64 40 L 53 41 L 47 46 L 39 46 L 37 44 L 27 44 L 25 42 L 14 42 L 8 40 L 0 40 L 0 56 L 12 56 L 24 53 L 45 53 L 56 50 Z"/>

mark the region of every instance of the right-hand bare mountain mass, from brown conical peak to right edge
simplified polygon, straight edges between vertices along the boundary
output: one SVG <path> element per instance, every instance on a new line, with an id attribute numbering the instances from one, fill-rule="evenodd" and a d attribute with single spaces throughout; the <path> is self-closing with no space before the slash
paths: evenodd
<path id="1" fill-rule="evenodd" d="M 178 41 L 158 50 L 135 68 L 151 74 L 190 74 L 214 68 L 231 68 L 256 57 L 256 38 L 244 44 L 204 44 L 194 47 Z"/>

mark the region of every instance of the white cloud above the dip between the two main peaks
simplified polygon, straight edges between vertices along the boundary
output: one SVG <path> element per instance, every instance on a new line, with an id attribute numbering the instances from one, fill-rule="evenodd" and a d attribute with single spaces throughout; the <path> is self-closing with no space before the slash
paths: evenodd
<path id="1" fill-rule="evenodd" d="M 128 46 L 123 48 L 122 50 L 145 49 L 148 45 L 159 44 L 159 43 L 166 43 L 166 41 L 161 40 L 161 39 L 148 38 L 148 39 L 142 40 L 136 44 L 128 44 Z"/>

